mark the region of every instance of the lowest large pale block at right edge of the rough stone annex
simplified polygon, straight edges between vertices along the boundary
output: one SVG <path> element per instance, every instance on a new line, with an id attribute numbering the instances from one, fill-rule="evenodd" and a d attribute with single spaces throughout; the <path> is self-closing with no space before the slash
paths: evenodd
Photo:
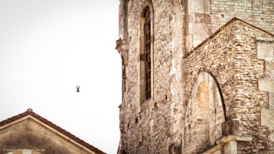
<path id="1" fill-rule="evenodd" d="M 266 127 L 274 127 L 273 109 L 261 109 L 261 125 Z"/>

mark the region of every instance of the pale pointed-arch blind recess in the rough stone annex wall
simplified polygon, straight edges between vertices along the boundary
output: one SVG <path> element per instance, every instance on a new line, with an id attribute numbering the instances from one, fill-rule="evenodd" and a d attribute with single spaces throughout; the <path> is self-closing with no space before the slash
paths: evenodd
<path id="1" fill-rule="evenodd" d="M 184 153 L 201 153 L 222 138 L 225 107 L 219 84 L 208 72 L 201 72 L 195 82 L 184 121 Z"/>

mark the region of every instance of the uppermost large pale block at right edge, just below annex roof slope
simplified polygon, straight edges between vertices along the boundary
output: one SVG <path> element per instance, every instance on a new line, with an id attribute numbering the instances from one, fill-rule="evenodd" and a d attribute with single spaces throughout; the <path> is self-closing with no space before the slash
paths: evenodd
<path id="1" fill-rule="evenodd" d="M 274 60 L 274 44 L 257 42 L 257 57 L 266 61 Z"/>

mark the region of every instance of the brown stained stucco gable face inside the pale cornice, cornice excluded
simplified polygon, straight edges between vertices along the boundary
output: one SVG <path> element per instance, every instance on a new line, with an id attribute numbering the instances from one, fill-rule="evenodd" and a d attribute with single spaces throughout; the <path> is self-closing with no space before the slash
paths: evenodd
<path id="1" fill-rule="evenodd" d="M 45 149 L 42 153 L 82 153 L 36 123 L 25 120 L 0 132 L 0 149 Z M 5 154 L 5 151 L 0 151 Z"/>

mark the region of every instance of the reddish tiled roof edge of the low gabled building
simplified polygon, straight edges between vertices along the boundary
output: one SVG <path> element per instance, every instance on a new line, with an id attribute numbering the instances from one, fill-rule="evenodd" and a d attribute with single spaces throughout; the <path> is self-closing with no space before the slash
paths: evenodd
<path id="1" fill-rule="evenodd" d="M 3 120 L 0 122 L 0 128 L 4 127 L 5 125 L 9 125 L 10 123 L 16 123 L 16 120 L 20 120 L 22 118 L 36 118 L 38 119 L 40 122 L 44 123 L 45 125 L 48 125 L 49 127 L 55 129 L 56 131 L 59 131 L 60 133 L 62 133 L 64 136 L 67 136 L 69 138 L 71 138 L 73 141 L 86 146 L 86 148 L 90 149 L 91 151 L 94 151 L 98 154 L 106 154 L 103 151 L 97 149 L 95 146 L 92 146 L 90 144 L 88 144 L 87 142 L 84 142 L 84 140 L 81 140 L 79 138 L 77 138 L 76 136 L 74 136 L 73 134 L 69 133 L 69 131 L 66 131 L 64 129 L 62 129 L 61 127 L 58 127 L 58 125 L 55 125 L 53 123 L 51 123 L 51 121 L 47 120 L 46 118 L 43 118 L 42 116 L 39 116 L 38 114 L 34 113 L 32 111 L 32 109 L 28 109 L 26 112 L 23 112 L 21 114 L 18 114 L 16 116 L 12 116 L 11 118 L 8 118 L 6 120 Z"/>

